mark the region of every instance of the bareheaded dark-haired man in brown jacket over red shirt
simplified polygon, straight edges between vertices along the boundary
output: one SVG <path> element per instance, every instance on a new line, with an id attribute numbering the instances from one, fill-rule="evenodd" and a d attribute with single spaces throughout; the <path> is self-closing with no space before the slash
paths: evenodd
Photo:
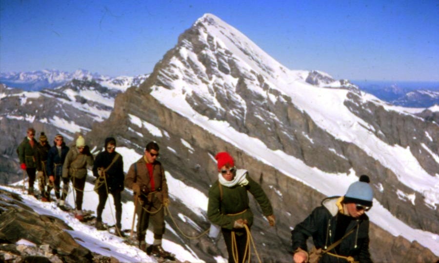
<path id="1" fill-rule="evenodd" d="M 165 258 L 170 256 L 170 253 L 161 246 L 165 231 L 163 206 L 169 204 L 169 199 L 163 166 L 157 160 L 159 150 L 156 142 L 151 141 L 146 145 L 144 156 L 130 166 L 125 186 L 133 190 L 135 202 L 138 202 L 136 213 L 139 248 L 148 255 Z M 153 225 L 154 243 L 147 247 L 145 236 L 150 220 Z"/>

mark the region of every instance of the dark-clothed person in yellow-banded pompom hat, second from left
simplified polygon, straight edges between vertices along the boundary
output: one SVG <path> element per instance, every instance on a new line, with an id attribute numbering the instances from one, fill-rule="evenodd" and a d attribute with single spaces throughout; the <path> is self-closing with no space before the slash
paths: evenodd
<path id="1" fill-rule="evenodd" d="M 40 155 L 41 165 L 40 165 L 40 169 L 37 172 L 38 187 L 40 188 L 41 201 L 49 202 L 50 194 L 46 191 L 46 184 L 49 179 L 46 173 L 46 167 L 47 167 L 47 156 L 50 149 L 50 145 L 49 143 L 47 143 L 47 136 L 44 134 L 44 132 L 41 132 L 39 140 L 40 140 L 40 144 L 38 147 L 38 152 Z"/>

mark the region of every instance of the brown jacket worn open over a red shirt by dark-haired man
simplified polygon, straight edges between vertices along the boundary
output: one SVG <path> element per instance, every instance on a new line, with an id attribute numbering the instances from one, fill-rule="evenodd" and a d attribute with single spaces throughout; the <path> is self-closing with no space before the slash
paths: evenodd
<path id="1" fill-rule="evenodd" d="M 137 174 L 134 167 L 135 164 L 137 165 Z M 168 198 L 168 184 L 166 183 L 163 166 L 157 160 L 153 163 L 153 176 L 155 189 L 161 193 L 162 198 L 160 198 L 160 201 L 163 202 L 163 198 Z M 151 192 L 149 172 L 148 168 L 146 168 L 144 156 L 142 156 L 137 162 L 131 164 L 128 174 L 125 177 L 126 187 L 132 189 L 134 183 L 138 183 L 140 189 L 142 189 L 143 186 L 146 186 L 149 192 Z"/>

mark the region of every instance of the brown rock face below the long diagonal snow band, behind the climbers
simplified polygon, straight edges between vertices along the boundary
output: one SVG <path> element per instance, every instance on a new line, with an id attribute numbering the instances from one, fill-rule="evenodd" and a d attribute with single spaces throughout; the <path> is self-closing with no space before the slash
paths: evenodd
<path id="1" fill-rule="evenodd" d="M 159 128 L 166 130 L 169 137 L 155 137 L 145 127 L 139 127 L 130 122 L 128 114 L 136 114 L 139 118 L 154 123 Z M 125 126 L 126 125 L 126 126 Z M 136 132 L 143 134 L 143 138 L 136 136 Z M 216 164 L 210 156 L 217 152 L 226 150 L 236 157 L 236 163 L 244 164 L 249 170 L 249 174 L 259 182 L 267 193 L 275 209 L 277 217 L 277 227 L 267 227 L 267 222 L 260 214 L 259 207 L 254 201 L 251 202 L 251 209 L 255 212 L 255 224 L 252 227 L 252 235 L 257 242 L 259 255 L 263 255 L 263 262 L 288 262 L 291 260 L 289 246 L 291 244 L 290 229 L 299 221 L 303 220 L 310 210 L 320 204 L 324 196 L 314 189 L 295 181 L 275 168 L 268 166 L 259 160 L 244 154 L 235 146 L 221 140 L 214 134 L 206 132 L 200 126 L 194 125 L 189 120 L 183 118 L 178 113 L 170 111 L 161 105 L 148 93 L 142 92 L 139 88 L 130 88 L 126 93 L 120 94 L 116 99 L 115 111 L 108 121 L 99 123 L 93 127 L 88 134 L 94 138 L 92 143 L 101 143 L 109 136 L 116 136 L 118 141 L 124 145 L 130 143 L 137 147 L 141 153 L 147 141 L 155 140 L 160 145 L 160 161 L 165 165 L 165 170 L 169 171 L 174 177 L 182 180 L 185 184 L 199 189 L 207 195 L 209 186 L 216 180 Z M 194 151 L 185 147 L 180 138 L 191 144 Z M 168 149 L 172 148 L 178 155 Z M 281 195 L 279 195 L 281 193 Z M 252 199 L 252 198 L 251 198 Z M 184 204 L 172 202 L 171 213 L 173 215 L 182 213 L 191 218 L 201 229 L 207 229 L 209 224 L 200 215 L 188 211 Z M 257 212 L 259 211 L 259 212 Z M 200 229 L 193 228 L 175 218 L 184 233 L 196 236 Z M 167 217 L 167 223 L 174 226 L 174 223 Z M 212 261 L 211 255 L 220 252 L 226 257 L 222 240 L 212 243 L 208 238 L 201 240 L 189 240 L 184 237 L 174 236 L 167 232 L 165 238 L 171 239 L 178 244 L 191 244 L 191 248 L 197 251 L 197 255 L 207 262 Z M 183 242 L 181 241 L 183 239 Z M 403 242 L 403 243 L 401 243 Z M 396 238 L 381 228 L 372 225 L 371 227 L 371 253 L 376 262 L 382 258 L 389 259 L 389 262 L 403 262 L 409 254 L 392 253 L 388 255 L 389 245 L 401 246 L 402 244 L 412 244 L 403 238 Z M 421 251 L 421 262 L 430 262 L 434 259 L 434 254 L 428 249 L 414 246 L 417 251 Z M 408 250 L 407 253 L 414 250 Z"/>

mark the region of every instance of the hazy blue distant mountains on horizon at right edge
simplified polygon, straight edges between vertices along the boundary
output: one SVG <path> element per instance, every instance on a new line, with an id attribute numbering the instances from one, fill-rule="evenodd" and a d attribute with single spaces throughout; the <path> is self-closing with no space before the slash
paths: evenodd
<path id="1" fill-rule="evenodd" d="M 352 81 L 352 83 L 393 105 L 416 108 L 439 105 L 439 82 Z"/>

